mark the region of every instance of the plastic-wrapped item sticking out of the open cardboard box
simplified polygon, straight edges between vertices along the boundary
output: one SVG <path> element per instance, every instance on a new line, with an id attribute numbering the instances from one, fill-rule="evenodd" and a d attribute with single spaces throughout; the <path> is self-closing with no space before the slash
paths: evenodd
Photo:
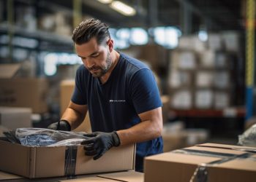
<path id="1" fill-rule="evenodd" d="M 14 132 L 15 136 L 13 136 Z M 84 134 L 86 134 L 86 132 L 67 132 L 45 128 L 18 128 L 10 132 L 4 132 L 4 135 L 6 135 L 12 143 L 20 143 L 23 146 L 78 145 L 86 140 Z M 18 142 L 15 141 L 14 138 L 17 138 Z"/>

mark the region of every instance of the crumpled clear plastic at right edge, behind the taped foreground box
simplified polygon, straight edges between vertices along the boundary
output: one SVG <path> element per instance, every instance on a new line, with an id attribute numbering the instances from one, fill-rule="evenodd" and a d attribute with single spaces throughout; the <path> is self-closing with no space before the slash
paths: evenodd
<path id="1" fill-rule="evenodd" d="M 242 135 L 238 135 L 238 144 L 256 147 L 256 124 L 249 127 Z"/>

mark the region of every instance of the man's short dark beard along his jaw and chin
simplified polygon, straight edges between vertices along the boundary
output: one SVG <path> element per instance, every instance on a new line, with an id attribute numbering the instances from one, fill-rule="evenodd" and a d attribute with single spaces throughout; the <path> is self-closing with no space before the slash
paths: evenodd
<path id="1" fill-rule="evenodd" d="M 89 71 L 92 74 L 92 76 L 99 78 L 108 72 L 111 65 L 112 65 L 112 60 L 110 58 L 110 52 L 108 52 L 108 55 L 106 58 L 106 65 L 105 66 L 93 66 L 93 67 L 89 68 Z M 97 71 L 94 72 L 94 70 L 97 70 Z"/>

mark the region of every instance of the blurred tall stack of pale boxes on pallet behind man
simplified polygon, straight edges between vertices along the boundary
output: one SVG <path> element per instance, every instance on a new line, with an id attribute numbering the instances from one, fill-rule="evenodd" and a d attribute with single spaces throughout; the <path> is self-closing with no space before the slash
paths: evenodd
<path id="1" fill-rule="evenodd" d="M 223 109 L 232 106 L 235 78 L 232 52 L 238 47 L 236 34 L 211 33 L 207 43 L 195 36 L 181 38 L 178 49 L 170 52 L 168 87 L 170 106 L 175 109 Z M 226 39 L 234 39 L 233 47 Z M 226 40 L 226 41 L 225 41 Z M 197 39 L 197 41 L 200 41 Z M 186 44 L 187 42 L 187 44 Z"/>

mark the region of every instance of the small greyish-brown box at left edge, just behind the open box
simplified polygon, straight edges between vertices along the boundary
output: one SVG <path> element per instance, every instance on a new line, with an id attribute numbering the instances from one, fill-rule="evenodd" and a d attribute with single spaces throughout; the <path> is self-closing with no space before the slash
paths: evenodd
<path id="1" fill-rule="evenodd" d="M 8 129 L 32 127 L 31 108 L 12 108 L 0 106 L 0 125 Z"/>

